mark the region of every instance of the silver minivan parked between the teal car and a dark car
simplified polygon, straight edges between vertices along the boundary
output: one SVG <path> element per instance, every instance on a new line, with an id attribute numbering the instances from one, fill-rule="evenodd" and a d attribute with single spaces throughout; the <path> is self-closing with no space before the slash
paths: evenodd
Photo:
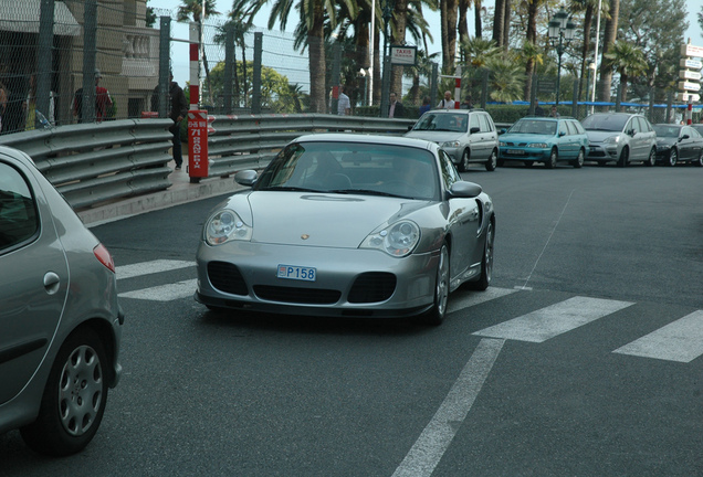
<path id="1" fill-rule="evenodd" d="M 581 121 L 588 135 L 586 160 L 600 166 L 616 161 L 626 167 L 631 161 L 654 166 L 657 134 L 642 115 L 629 113 L 594 113 Z"/>

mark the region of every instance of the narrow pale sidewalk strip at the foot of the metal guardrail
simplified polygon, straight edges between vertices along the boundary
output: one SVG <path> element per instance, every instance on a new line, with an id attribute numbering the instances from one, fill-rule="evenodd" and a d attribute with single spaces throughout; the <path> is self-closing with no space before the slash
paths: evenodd
<path id="1" fill-rule="evenodd" d="M 132 215 L 166 209 L 187 202 L 208 199 L 243 189 L 234 182 L 234 174 L 228 178 L 201 179 L 199 183 L 190 183 L 187 167 L 188 157 L 183 155 L 183 168 L 174 170 L 169 176 L 172 183 L 166 190 L 137 195 L 126 199 L 118 199 L 108 204 L 90 208 L 77 212 L 86 226 L 96 226 L 107 222 L 114 222 Z M 170 161 L 168 167 L 176 168 L 176 163 Z"/>

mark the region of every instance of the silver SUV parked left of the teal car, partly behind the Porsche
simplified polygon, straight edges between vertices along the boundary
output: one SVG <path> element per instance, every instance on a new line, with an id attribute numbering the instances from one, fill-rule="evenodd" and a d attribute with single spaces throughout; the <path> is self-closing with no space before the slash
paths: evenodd
<path id="1" fill-rule="evenodd" d="M 406 137 L 431 140 L 444 149 L 460 172 L 471 162 L 495 170 L 499 134 L 483 109 L 433 109 L 424 113 Z"/>

